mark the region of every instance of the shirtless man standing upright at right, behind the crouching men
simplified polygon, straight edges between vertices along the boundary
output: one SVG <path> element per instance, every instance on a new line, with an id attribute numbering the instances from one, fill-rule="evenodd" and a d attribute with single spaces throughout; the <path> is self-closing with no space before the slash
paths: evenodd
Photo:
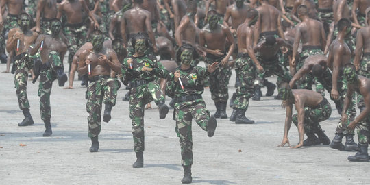
<path id="1" fill-rule="evenodd" d="M 328 67 L 332 70 L 332 99 L 339 99 L 341 102 L 345 99 L 347 85 L 343 80 L 343 66 L 351 62 L 351 50 L 345 43 L 345 36 L 351 34 L 351 21 L 347 18 L 342 18 L 338 21 L 338 36 L 329 47 Z M 341 103 L 343 105 L 343 103 Z M 354 108 L 354 101 L 351 106 L 343 108 L 342 115 L 347 114 L 349 121 L 354 120 L 356 116 L 356 109 Z M 357 150 L 357 144 L 354 142 L 354 132 L 346 130 L 349 121 L 340 121 L 336 127 L 336 134 L 330 147 L 339 150 Z M 345 146 L 342 144 L 342 138 L 345 136 Z"/>

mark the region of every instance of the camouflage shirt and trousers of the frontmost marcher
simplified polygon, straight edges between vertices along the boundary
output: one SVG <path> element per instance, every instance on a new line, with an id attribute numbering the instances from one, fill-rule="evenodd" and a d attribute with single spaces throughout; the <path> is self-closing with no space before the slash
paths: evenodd
<path id="1" fill-rule="evenodd" d="M 177 137 L 180 138 L 181 164 L 188 166 L 193 164 L 192 119 L 202 130 L 208 130 L 207 122 L 210 119 L 210 112 L 206 109 L 206 103 L 201 94 L 204 92 L 204 78 L 210 73 L 201 66 L 190 66 L 190 69 L 186 70 L 178 67 L 176 71 L 180 71 L 180 79 L 184 89 L 180 86 L 180 82 L 173 80 L 174 75 L 171 73 L 166 94 L 175 98 L 175 130 Z"/>

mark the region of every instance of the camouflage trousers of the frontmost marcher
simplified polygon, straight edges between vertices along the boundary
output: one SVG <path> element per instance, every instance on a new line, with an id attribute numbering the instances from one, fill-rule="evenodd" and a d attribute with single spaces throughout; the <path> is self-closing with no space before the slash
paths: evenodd
<path id="1" fill-rule="evenodd" d="M 175 104 L 176 133 L 180 139 L 181 164 L 188 166 L 193 164 L 193 136 L 191 130 L 191 121 L 201 127 L 202 130 L 208 130 L 208 119 L 210 112 L 206 109 L 206 103 L 203 99 L 193 101 L 184 101 Z"/>

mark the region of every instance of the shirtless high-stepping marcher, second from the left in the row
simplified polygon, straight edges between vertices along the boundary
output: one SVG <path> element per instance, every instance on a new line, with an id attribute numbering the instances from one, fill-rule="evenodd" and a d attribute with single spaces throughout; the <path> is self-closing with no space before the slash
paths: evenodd
<path id="1" fill-rule="evenodd" d="M 38 36 L 36 45 L 31 49 L 30 54 L 35 55 L 40 49 L 42 65 L 40 66 L 40 84 L 38 86 L 38 96 L 40 97 L 40 114 L 45 124 L 45 132 L 42 136 L 51 136 L 51 108 L 50 94 L 53 81 L 58 77 L 59 86 L 64 86 L 67 80 L 64 74 L 63 59 L 67 51 L 67 46 L 60 38 L 59 33 L 62 23 L 54 18 L 50 20 L 51 35 L 42 34 Z M 42 45 L 42 47 L 41 47 Z"/>

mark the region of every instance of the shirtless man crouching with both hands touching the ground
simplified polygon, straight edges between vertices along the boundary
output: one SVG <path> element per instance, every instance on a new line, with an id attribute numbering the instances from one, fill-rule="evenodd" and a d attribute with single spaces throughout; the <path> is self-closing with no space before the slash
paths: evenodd
<path id="1" fill-rule="evenodd" d="M 320 93 L 314 92 L 307 89 L 294 89 L 283 83 L 279 86 L 279 94 L 282 97 L 283 106 L 286 110 L 285 126 L 284 126 L 284 137 L 282 143 L 278 147 L 283 147 L 285 144 L 290 143 L 288 140 L 288 132 L 291 128 L 292 121 L 298 127 L 299 143 L 293 149 L 300 148 L 302 146 L 319 145 L 321 137 L 323 140 L 329 141 L 328 136 L 323 133 L 319 122 L 325 121 L 332 114 L 332 107 L 328 100 L 326 100 Z M 293 104 L 297 110 L 297 114 L 293 114 Z M 306 109 L 309 108 L 309 109 Z M 317 134 L 315 136 L 314 134 Z M 304 140 L 304 134 L 306 133 L 307 139 Z M 325 145 L 328 145 L 326 143 Z"/>

